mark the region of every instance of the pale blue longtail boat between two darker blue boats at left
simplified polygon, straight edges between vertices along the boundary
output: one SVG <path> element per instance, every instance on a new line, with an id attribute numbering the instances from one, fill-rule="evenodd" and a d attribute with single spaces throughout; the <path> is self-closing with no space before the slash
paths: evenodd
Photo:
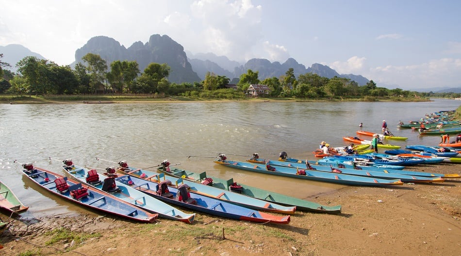
<path id="1" fill-rule="evenodd" d="M 89 170 L 81 166 L 76 166 L 70 159 L 64 160 L 63 162 L 63 169 L 66 173 L 100 191 L 109 192 L 111 195 L 125 202 L 146 211 L 157 213 L 160 217 L 165 219 L 181 221 L 188 224 L 194 221 L 195 213 L 185 213 L 163 201 L 160 201 L 152 196 L 148 196 L 129 185 L 115 181 L 115 177 L 112 177 L 112 174 L 115 174 L 115 168 L 108 167 L 106 170 L 109 173 L 102 175 L 99 174 L 96 169 Z M 116 174 L 114 176 L 116 176 Z"/>

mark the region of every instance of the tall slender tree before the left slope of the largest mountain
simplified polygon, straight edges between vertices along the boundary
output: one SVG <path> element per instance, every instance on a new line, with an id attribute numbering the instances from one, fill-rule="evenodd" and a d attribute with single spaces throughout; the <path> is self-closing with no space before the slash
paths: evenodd
<path id="1" fill-rule="evenodd" d="M 107 70 L 106 61 L 101 59 L 98 54 L 93 53 L 87 53 L 82 57 L 82 60 L 88 64 L 86 70 L 90 74 L 90 89 L 96 92 L 104 82 Z"/>

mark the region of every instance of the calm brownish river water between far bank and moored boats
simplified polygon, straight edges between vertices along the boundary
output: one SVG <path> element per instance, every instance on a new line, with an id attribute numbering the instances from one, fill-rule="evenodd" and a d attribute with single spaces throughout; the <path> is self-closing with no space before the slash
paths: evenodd
<path id="1" fill-rule="evenodd" d="M 343 186 L 272 177 L 219 166 L 209 158 L 218 153 L 276 159 L 280 151 L 313 160 L 319 142 L 344 146 L 343 136 L 363 130 L 379 132 L 387 120 L 395 136 L 407 144 L 436 145 L 434 136 L 419 136 L 398 130 L 396 123 L 416 120 L 426 113 L 456 109 L 459 101 L 424 103 L 394 102 L 220 102 L 172 104 L 47 104 L 0 105 L 0 180 L 8 184 L 22 202 L 31 206 L 25 214 L 82 211 L 57 196 L 48 195 L 31 181 L 21 178 L 21 166 L 33 163 L 61 173 L 60 161 L 72 158 L 81 166 L 105 168 L 127 160 L 136 167 L 155 166 L 165 159 L 183 169 L 207 171 L 211 176 L 234 178 L 251 186 L 296 196 L 314 198 Z M 363 137 L 366 138 L 366 137 Z M 187 155 L 206 156 L 191 157 Z M 245 161 L 248 157 L 229 155 Z M 296 188 L 296 189 L 294 189 Z M 42 194 L 43 193 L 43 194 Z M 321 196 L 312 199 L 322 203 Z M 332 202 L 334 203 L 334 202 Z M 83 210 L 84 211 L 84 210 Z"/>

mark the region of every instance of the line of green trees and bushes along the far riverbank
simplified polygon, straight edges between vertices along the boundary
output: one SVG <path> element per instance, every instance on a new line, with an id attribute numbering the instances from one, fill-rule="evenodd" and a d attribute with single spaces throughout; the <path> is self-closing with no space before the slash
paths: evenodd
<path id="1" fill-rule="evenodd" d="M 239 78 L 208 72 L 203 81 L 193 83 L 170 83 L 170 67 L 163 63 L 150 63 L 143 72 L 136 61 L 115 60 L 110 69 L 99 55 L 88 53 L 82 62 L 70 66 L 59 66 L 49 60 L 25 57 L 16 63 L 17 74 L 5 69 L 9 63 L 1 61 L 0 93 L 18 95 L 44 94 L 97 94 L 97 93 L 164 93 L 169 96 L 243 98 L 250 84 L 268 86 L 268 97 L 297 98 L 363 98 L 363 97 L 452 97 L 460 98 L 461 93 L 416 92 L 378 87 L 370 80 L 360 86 L 349 78 L 322 77 L 313 73 L 294 75 L 290 68 L 280 77 L 259 80 L 258 71 L 247 70 Z M 229 89 L 230 83 L 236 85 Z"/>

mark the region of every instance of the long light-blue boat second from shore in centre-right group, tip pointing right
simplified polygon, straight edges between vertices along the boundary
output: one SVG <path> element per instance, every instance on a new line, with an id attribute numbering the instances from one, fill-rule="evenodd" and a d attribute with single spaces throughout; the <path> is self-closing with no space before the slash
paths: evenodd
<path id="1" fill-rule="evenodd" d="M 261 159 L 263 160 L 263 159 Z M 310 169 L 310 170 L 317 170 L 317 171 L 325 171 L 331 173 L 343 173 L 349 175 L 357 175 L 357 176 L 364 176 L 370 178 L 378 178 L 378 179 L 386 179 L 386 180 L 395 180 L 400 179 L 402 182 L 443 182 L 444 180 L 440 177 L 428 177 L 428 176 L 418 176 L 412 175 L 411 173 L 402 174 L 401 170 L 389 170 L 384 171 L 383 169 L 379 171 L 364 171 L 361 169 L 352 169 L 352 168 L 344 168 L 344 167 L 333 167 L 333 166 L 321 166 L 321 165 L 306 165 L 301 163 L 291 163 L 291 162 L 282 162 L 282 161 L 275 161 L 269 160 L 267 162 L 260 162 L 258 159 L 250 159 L 247 160 L 250 163 L 268 163 L 270 166 L 282 166 L 282 167 L 291 167 L 291 168 L 298 168 L 298 169 Z M 308 162 L 309 163 L 309 162 Z M 423 173 L 424 174 L 424 173 Z"/>

